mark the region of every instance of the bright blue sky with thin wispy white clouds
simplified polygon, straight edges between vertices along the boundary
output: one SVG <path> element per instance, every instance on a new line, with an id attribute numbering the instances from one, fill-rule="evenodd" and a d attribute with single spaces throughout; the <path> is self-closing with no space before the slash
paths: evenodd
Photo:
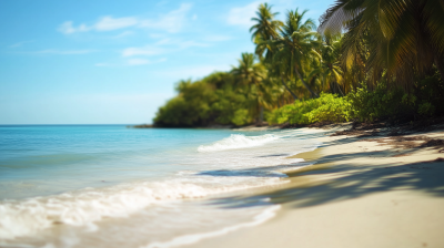
<path id="1" fill-rule="evenodd" d="M 180 80 L 253 52 L 263 1 L 0 1 L 0 124 L 152 123 Z M 317 21 L 334 0 L 268 1 Z"/>

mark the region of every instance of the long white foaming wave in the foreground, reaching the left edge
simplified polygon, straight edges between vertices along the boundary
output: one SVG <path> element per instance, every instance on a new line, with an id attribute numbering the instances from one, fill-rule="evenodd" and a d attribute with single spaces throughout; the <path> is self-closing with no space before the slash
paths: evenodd
<path id="1" fill-rule="evenodd" d="M 282 177 L 282 176 L 281 176 Z M 109 217 L 128 217 L 150 205 L 265 185 L 279 176 L 208 176 L 194 173 L 163 182 L 141 182 L 108 188 L 87 188 L 48 197 L 0 202 L 0 240 L 32 235 L 53 225 L 88 226 Z"/>

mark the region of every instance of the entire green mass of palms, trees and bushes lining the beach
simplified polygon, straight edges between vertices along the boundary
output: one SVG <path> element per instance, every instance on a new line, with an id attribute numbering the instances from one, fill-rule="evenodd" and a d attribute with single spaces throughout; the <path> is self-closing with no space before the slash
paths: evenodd
<path id="1" fill-rule="evenodd" d="M 253 53 L 182 81 L 159 126 L 405 122 L 444 115 L 443 0 L 336 0 L 320 19 L 259 6 Z"/>

